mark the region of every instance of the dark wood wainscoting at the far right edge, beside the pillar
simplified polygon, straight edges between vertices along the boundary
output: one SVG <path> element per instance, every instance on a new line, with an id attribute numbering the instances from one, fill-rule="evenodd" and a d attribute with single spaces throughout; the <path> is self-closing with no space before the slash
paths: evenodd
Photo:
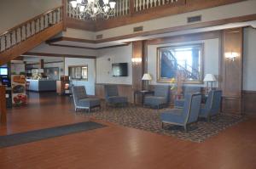
<path id="1" fill-rule="evenodd" d="M 242 91 L 242 110 L 247 115 L 256 116 L 256 91 Z"/>

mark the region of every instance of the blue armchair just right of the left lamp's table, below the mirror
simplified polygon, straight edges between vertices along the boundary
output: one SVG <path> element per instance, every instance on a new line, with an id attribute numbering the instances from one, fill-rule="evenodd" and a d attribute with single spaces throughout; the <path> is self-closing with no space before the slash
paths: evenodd
<path id="1" fill-rule="evenodd" d="M 167 105 L 169 101 L 170 87 L 169 86 L 155 86 L 154 87 L 154 96 L 146 96 L 144 98 L 144 105 L 157 107 L 158 109 Z"/>

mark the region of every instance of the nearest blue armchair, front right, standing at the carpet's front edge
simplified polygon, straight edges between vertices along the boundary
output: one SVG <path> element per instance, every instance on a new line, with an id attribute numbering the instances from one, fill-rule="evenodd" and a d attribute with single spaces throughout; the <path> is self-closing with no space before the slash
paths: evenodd
<path id="1" fill-rule="evenodd" d="M 160 115 L 162 127 L 164 123 L 183 126 L 187 132 L 187 125 L 197 121 L 201 108 L 201 93 L 186 94 L 183 109 L 172 109 Z"/>

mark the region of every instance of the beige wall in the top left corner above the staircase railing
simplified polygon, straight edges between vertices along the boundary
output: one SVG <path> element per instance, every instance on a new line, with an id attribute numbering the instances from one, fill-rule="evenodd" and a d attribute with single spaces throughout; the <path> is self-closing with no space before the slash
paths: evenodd
<path id="1" fill-rule="evenodd" d="M 0 33 L 58 6 L 61 0 L 1 0 Z"/>

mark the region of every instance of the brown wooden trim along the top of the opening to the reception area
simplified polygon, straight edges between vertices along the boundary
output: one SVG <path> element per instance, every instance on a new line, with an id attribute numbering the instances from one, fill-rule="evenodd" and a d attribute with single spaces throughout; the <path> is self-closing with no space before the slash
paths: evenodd
<path id="1" fill-rule="evenodd" d="M 52 56 L 52 57 L 62 57 L 62 58 L 96 59 L 96 56 L 83 56 L 83 55 L 73 55 L 73 54 L 33 53 L 33 52 L 27 52 L 25 54 L 22 54 L 22 56 Z"/>

